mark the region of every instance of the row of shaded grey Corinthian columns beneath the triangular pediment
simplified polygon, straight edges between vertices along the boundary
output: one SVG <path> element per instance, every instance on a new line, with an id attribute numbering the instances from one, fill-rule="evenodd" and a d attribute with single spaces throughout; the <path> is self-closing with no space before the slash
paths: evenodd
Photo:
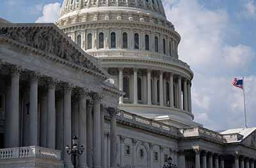
<path id="1" fill-rule="evenodd" d="M 64 163 L 70 167 L 71 158 L 65 151 L 65 147 L 71 146 L 72 135 L 76 134 L 79 137 L 79 144 L 86 146 L 86 151 L 79 157 L 79 166 L 104 167 L 102 164 L 104 143 L 101 143 L 102 132 L 104 133 L 104 113 L 111 113 L 111 146 L 116 146 L 117 110 L 110 107 L 101 108 L 103 97 L 99 93 L 89 93 L 86 88 L 74 87 L 68 82 L 30 72 L 29 80 L 25 81 L 29 84 L 29 102 L 26 108 L 29 109 L 27 115 L 30 117 L 29 135 L 25 135 L 20 129 L 20 126 L 24 125 L 20 123 L 24 122 L 20 116 L 20 106 L 22 106 L 20 100 L 23 99 L 20 91 L 25 90 L 20 88 L 23 69 L 19 66 L 8 66 L 8 68 L 11 73 L 10 82 L 6 82 L 10 83 L 6 85 L 6 92 L 10 94 L 6 93 L 6 95 L 10 96 L 6 96 L 8 106 L 6 106 L 5 116 L 4 148 L 24 146 L 22 137 L 29 136 L 26 142 L 29 146 L 62 150 Z M 77 102 L 76 110 L 72 108 L 74 101 Z M 72 121 L 73 115 L 78 116 L 75 122 Z M 76 133 L 72 131 L 73 129 Z M 116 150 L 111 151 L 111 156 L 116 156 Z M 111 157 L 111 160 L 114 167 L 115 158 Z"/>

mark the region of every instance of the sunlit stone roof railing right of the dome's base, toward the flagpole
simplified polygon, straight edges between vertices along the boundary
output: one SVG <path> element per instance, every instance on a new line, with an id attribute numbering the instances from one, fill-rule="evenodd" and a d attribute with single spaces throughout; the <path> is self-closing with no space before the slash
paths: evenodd
<path id="1" fill-rule="evenodd" d="M 221 143 L 224 142 L 223 135 L 221 135 L 218 132 L 214 132 L 212 130 L 205 129 L 203 127 L 187 127 L 187 128 L 179 129 L 179 131 L 182 134 L 182 136 L 184 136 L 184 137 L 200 136 L 200 137 L 206 137 L 209 139 L 213 139 L 213 140 L 219 141 Z"/>

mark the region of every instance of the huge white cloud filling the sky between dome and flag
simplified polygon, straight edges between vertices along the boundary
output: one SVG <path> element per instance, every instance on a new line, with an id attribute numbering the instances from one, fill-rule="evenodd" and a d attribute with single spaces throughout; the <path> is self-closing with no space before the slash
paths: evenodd
<path id="1" fill-rule="evenodd" d="M 209 10 L 198 0 L 164 0 L 164 6 L 168 20 L 182 38 L 179 57 L 195 73 L 192 89 L 195 121 L 215 130 L 242 127 L 242 92 L 230 82 L 232 75 L 248 73 L 255 52 L 239 42 L 227 43 L 228 38 L 237 34 L 226 10 Z M 248 77 L 247 81 L 248 118 L 255 118 L 256 76 Z M 250 126 L 256 127 L 255 123 Z"/>

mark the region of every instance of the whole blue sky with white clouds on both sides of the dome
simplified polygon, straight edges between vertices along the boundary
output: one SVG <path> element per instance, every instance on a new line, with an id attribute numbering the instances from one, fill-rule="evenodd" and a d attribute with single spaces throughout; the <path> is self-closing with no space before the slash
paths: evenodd
<path id="1" fill-rule="evenodd" d="M 213 130 L 243 127 L 243 92 L 230 85 L 246 78 L 248 123 L 256 127 L 255 0 L 162 0 L 182 36 L 181 60 L 195 73 L 195 121 Z M 11 22 L 54 22 L 62 0 L 1 0 L 0 17 Z"/>

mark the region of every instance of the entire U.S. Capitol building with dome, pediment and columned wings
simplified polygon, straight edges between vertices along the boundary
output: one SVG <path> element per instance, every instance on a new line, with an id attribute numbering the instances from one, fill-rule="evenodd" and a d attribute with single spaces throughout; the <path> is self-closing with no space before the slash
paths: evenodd
<path id="1" fill-rule="evenodd" d="M 0 167 L 255 168 L 256 128 L 194 122 L 193 72 L 161 0 L 65 0 L 54 24 L 0 19 Z M 73 158 L 74 159 L 74 158 Z"/>

